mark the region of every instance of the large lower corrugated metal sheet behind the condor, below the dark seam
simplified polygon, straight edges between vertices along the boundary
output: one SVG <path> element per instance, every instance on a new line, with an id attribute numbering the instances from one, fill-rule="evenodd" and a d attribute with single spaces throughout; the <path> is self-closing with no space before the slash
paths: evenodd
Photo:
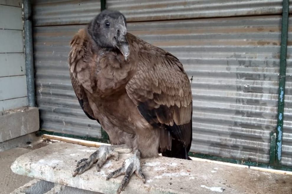
<path id="1" fill-rule="evenodd" d="M 268 163 L 277 122 L 280 22 L 273 15 L 128 23 L 130 33 L 177 56 L 191 79 L 191 151 Z M 82 27 L 34 28 L 37 105 L 42 129 L 100 137 L 68 73 L 69 41 Z"/>

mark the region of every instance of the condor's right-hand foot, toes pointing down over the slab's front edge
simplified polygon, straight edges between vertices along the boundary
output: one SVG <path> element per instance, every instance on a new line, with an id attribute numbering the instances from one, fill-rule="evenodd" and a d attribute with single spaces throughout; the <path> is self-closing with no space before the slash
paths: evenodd
<path id="1" fill-rule="evenodd" d="M 142 173 L 141 166 L 140 166 L 140 151 L 139 150 L 135 150 L 134 155 L 131 156 L 130 158 L 127 158 L 124 161 L 121 168 L 110 173 L 106 177 L 106 180 L 109 180 L 111 177 L 116 178 L 119 175 L 125 175 L 122 180 L 121 185 L 119 186 L 117 190 L 117 193 L 121 193 L 121 191 L 125 189 L 133 173 L 135 173 L 135 175 L 137 175 L 137 177 L 142 179 L 143 183 L 145 183 L 145 175 Z"/>

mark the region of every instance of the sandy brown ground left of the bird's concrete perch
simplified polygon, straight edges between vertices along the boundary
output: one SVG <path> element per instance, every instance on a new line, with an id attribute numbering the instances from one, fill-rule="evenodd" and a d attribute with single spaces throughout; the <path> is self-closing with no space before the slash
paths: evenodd
<path id="1" fill-rule="evenodd" d="M 5 152 L 0 152 L 0 193 L 7 194 L 14 189 L 28 183 L 32 178 L 27 176 L 17 175 L 10 169 L 11 164 L 20 155 L 29 152 L 25 148 L 14 148 Z"/>

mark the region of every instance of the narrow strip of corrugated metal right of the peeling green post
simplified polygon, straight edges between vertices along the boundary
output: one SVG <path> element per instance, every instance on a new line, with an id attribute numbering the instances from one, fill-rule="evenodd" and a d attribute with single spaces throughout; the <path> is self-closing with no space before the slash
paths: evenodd
<path id="1" fill-rule="evenodd" d="M 285 106 L 283 120 L 282 165 L 292 165 L 292 17 L 289 17 Z"/>

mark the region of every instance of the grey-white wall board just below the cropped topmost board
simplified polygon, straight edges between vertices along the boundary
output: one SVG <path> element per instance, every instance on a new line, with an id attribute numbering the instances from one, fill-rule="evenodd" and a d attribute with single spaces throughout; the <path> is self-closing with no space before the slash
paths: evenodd
<path id="1" fill-rule="evenodd" d="M 0 29 L 23 30 L 21 7 L 0 5 Z"/>

